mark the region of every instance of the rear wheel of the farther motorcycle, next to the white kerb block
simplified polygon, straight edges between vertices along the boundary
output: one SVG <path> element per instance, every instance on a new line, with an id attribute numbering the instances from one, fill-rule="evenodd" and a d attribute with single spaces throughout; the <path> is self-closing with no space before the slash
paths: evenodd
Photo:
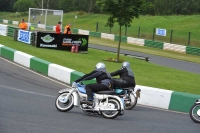
<path id="1" fill-rule="evenodd" d="M 137 97 L 133 94 L 126 94 L 124 97 L 124 109 L 130 110 L 137 104 Z"/>

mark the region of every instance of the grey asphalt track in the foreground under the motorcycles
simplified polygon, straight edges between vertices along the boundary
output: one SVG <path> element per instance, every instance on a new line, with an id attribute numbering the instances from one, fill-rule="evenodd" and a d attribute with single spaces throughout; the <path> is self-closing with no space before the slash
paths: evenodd
<path id="1" fill-rule="evenodd" d="M 55 108 L 58 90 L 48 77 L 0 57 L 0 133 L 198 133 L 188 114 L 137 105 L 116 119 Z"/>

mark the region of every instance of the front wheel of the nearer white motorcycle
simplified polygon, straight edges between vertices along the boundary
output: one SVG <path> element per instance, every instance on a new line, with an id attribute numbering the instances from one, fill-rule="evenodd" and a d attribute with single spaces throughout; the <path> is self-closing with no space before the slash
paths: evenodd
<path id="1" fill-rule="evenodd" d="M 59 111 L 66 112 L 74 107 L 74 97 L 70 95 L 69 99 L 66 99 L 68 93 L 69 92 L 62 93 L 56 98 L 55 105 Z"/>

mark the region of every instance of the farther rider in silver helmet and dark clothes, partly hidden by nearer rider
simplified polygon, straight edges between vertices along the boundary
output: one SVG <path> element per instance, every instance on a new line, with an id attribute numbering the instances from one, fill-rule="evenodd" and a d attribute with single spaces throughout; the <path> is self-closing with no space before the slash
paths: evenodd
<path id="1" fill-rule="evenodd" d="M 111 76 L 120 76 L 120 78 L 113 78 L 114 88 L 135 87 L 134 73 L 130 66 L 130 63 L 125 61 L 119 70 L 110 73 Z"/>

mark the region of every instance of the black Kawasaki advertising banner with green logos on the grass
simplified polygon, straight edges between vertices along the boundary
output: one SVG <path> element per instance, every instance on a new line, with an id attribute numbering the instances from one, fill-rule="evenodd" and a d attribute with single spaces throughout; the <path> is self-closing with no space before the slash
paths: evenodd
<path id="1" fill-rule="evenodd" d="M 37 32 L 36 47 L 70 51 L 72 46 L 78 46 L 78 51 L 87 52 L 88 37 L 88 35 Z"/>

